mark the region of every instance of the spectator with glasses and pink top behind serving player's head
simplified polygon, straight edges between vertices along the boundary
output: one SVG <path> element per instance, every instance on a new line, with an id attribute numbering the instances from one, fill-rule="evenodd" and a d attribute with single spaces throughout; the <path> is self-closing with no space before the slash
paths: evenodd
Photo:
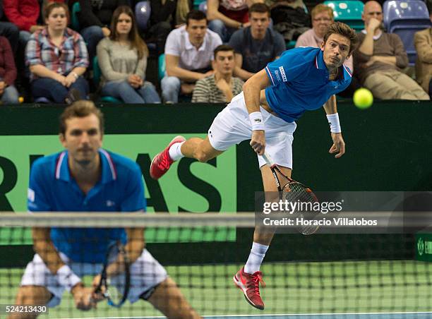
<path id="1" fill-rule="evenodd" d="M 333 10 L 325 4 L 317 4 L 311 11 L 312 29 L 304 32 L 296 41 L 296 47 L 320 47 L 328 26 L 334 22 Z M 344 62 L 353 71 L 352 57 Z"/>

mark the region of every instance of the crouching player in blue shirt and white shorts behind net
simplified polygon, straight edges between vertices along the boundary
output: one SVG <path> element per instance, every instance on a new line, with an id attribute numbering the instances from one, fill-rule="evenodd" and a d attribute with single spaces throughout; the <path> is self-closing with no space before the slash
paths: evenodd
<path id="1" fill-rule="evenodd" d="M 102 149 L 104 118 L 90 101 L 77 101 L 60 117 L 66 150 L 37 159 L 30 171 L 30 212 L 144 212 L 140 167 L 131 159 Z M 17 305 L 57 306 L 69 291 L 76 308 L 90 310 L 103 297 L 95 292 L 112 243 L 121 242 L 133 279 L 127 299 L 150 302 L 167 318 L 200 318 L 167 271 L 145 249 L 143 228 L 37 227 L 32 229 L 35 256 L 25 268 Z M 124 269 L 118 253 L 106 273 L 116 280 Z M 92 287 L 82 277 L 94 276 Z M 16 313 L 12 318 L 35 318 Z"/>

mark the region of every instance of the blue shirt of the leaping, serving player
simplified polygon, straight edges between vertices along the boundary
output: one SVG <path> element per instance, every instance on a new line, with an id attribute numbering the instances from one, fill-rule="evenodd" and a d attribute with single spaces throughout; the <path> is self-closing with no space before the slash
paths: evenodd
<path id="1" fill-rule="evenodd" d="M 349 68 L 341 66 L 337 80 L 329 80 L 323 51 L 313 47 L 287 50 L 265 71 L 272 84 L 265 89 L 267 102 L 287 122 L 296 121 L 307 110 L 323 107 L 332 95 L 345 90 L 352 78 Z"/>

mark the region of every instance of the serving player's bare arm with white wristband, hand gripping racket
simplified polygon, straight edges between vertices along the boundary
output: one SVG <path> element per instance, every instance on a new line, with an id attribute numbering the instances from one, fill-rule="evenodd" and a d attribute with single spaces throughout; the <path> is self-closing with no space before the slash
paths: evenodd
<path id="1" fill-rule="evenodd" d="M 251 119 L 252 124 L 250 144 L 253 150 L 259 155 L 263 155 L 265 151 L 263 116 L 260 112 L 261 90 L 267 88 L 269 85 L 270 80 L 265 70 L 261 70 L 253 75 L 243 85 L 246 109 L 248 110 L 249 119 Z"/>

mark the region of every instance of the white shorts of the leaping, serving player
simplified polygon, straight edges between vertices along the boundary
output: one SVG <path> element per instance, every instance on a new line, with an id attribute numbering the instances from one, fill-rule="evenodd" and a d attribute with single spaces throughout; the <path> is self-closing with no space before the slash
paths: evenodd
<path id="1" fill-rule="evenodd" d="M 276 164 L 292 168 L 292 141 L 296 123 L 288 123 L 270 114 L 263 107 L 260 107 L 260 111 L 263 114 L 265 128 L 265 152 Z M 224 151 L 234 144 L 250 140 L 251 136 L 251 121 L 241 92 L 233 97 L 231 103 L 222 112 L 217 114 L 208 130 L 208 138 L 215 150 Z M 260 155 L 258 155 L 258 162 L 260 167 L 265 165 L 265 160 Z"/>

